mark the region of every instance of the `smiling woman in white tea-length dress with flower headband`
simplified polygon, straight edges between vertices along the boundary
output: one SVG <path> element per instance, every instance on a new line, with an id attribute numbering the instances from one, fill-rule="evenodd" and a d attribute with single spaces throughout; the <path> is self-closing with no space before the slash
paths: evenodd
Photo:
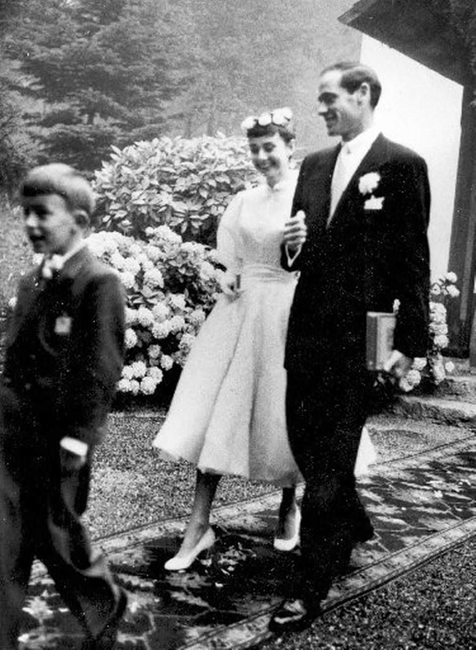
<path id="1" fill-rule="evenodd" d="M 220 220 L 223 294 L 192 346 L 153 442 L 164 458 L 197 467 L 191 518 L 168 570 L 189 567 L 215 542 L 209 515 L 222 474 L 282 486 L 274 546 L 290 551 L 298 543 L 300 473 L 287 441 L 283 366 L 297 276 L 280 266 L 297 181 L 291 117 L 289 109 L 278 109 L 243 122 L 252 162 L 266 182 L 239 192 Z M 365 433 L 359 465 L 372 454 Z"/>

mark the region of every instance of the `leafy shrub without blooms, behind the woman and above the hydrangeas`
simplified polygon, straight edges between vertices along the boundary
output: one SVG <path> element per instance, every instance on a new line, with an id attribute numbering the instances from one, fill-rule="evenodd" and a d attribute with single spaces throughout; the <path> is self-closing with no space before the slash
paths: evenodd
<path id="1" fill-rule="evenodd" d="M 184 240 L 215 245 L 233 194 L 256 183 L 245 138 L 155 138 L 124 149 L 96 172 L 100 229 L 137 239 L 165 224 Z"/>

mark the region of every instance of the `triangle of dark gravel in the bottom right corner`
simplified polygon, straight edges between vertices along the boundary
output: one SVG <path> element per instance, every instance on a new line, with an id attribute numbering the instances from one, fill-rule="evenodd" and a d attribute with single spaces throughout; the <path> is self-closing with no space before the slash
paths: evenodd
<path id="1" fill-rule="evenodd" d="M 262 650 L 476 649 L 476 539 Z"/>

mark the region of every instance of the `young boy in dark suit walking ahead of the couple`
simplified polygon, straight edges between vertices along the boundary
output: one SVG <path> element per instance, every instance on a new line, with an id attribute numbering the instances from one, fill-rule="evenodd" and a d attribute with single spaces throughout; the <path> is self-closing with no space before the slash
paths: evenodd
<path id="1" fill-rule="evenodd" d="M 103 437 L 124 354 L 124 294 L 88 251 L 89 183 L 65 164 L 21 187 L 27 236 L 44 259 L 21 279 L 0 389 L 0 647 L 17 647 L 37 556 L 86 630 L 112 648 L 126 595 L 81 523 L 92 450 Z"/>

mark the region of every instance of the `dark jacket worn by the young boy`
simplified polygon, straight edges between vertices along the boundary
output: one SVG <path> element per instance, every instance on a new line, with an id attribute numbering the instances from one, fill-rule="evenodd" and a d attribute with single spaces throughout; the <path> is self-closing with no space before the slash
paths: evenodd
<path id="1" fill-rule="evenodd" d="M 86 246 L 58 278 L 43 279 L 40 266 L 21 279 L 3 384 L 52 442 L 101 440 L 123 359 L 124 291 Z"/>

